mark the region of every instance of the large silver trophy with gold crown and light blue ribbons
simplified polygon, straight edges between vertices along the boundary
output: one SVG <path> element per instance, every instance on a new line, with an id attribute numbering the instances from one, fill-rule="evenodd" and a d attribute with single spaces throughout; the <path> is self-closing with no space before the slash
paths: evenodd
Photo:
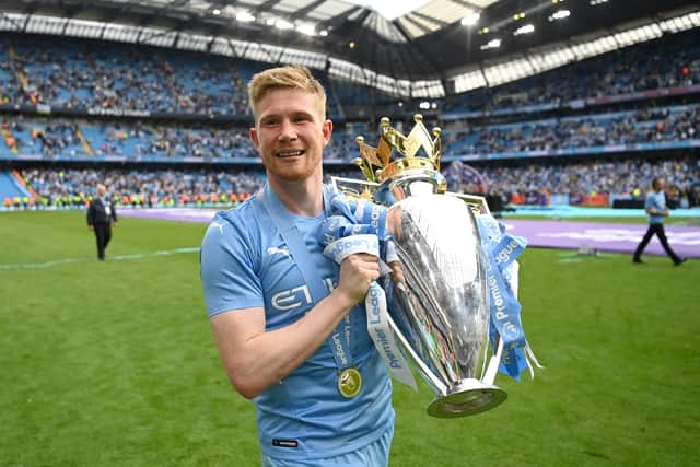
<path id="1" fill-rule="evenodd" d="M 429 415 L 464 417 L 505 400 L 493 384 L 499 370 L 517 378 L 525 367 L 532 372 L 530 361 L 537 363 L 516 300 L 514 259 L 525 244 L 499 229 L 482 197 L 446 192 L 441 131 L 434 128 L 431 136 L 420 115 L 415 121 L 404 136 L 383 118 L 377 148 L 358 137 L 355 162 L 366 180 L 336 177 L 334 184 L 349 197 L 388 207 L 392 273 L 383 289 L 386 322 L 400 351 L 386 350 L 394 343 L 386 342 L 387 332 L 375 339 L 377 350 L 395 376 L 400 353 L 435 392 Z M 370 323 L 371 315 L 368 306 Z M 399 380 L 411 384 L 408 373 Z"/>

